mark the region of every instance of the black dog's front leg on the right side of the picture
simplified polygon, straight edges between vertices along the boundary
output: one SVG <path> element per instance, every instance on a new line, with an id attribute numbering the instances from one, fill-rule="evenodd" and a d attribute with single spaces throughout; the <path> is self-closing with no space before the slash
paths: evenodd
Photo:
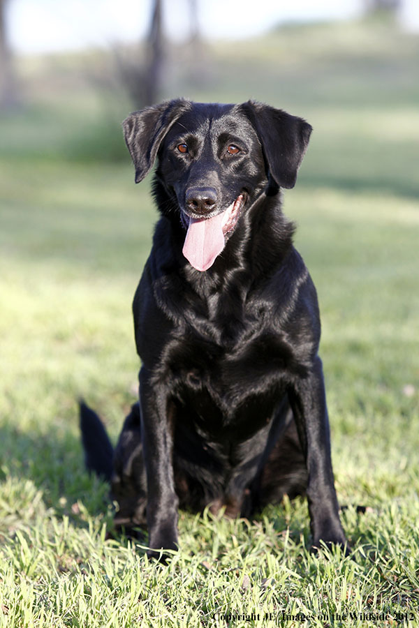
<path id="1" fill-rule="evenodd" d="M 347 545 L 339 519 L 330 454 L 330 430 L 321 359 L 292 387 L 290 401 L 306 458 L 310 526 L 314 547 L 319 541 Z"/>

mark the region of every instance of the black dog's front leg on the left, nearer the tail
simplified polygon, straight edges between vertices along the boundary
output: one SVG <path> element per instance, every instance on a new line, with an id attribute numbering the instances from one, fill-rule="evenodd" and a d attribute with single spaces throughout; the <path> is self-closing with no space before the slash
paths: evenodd
<path id="1" fill-rule="evenodd" d="M 163 385 L 151 384 L 140 371 L 142 447 L 147 474 L 147 528 L 149 557 L 166 562 L 161 549 L 177 549 L 177 504 L 173 480 L 173 417 Z"/>

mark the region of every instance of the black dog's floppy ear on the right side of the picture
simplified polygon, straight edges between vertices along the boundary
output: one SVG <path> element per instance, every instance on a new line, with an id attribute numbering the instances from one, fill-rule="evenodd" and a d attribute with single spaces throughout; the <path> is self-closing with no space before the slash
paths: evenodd
<path id="1" fill-rule="evenodd" d="M 309 144 L 311 126 L 302 118 L 249 100 L 242 105 L 258 133 L 270 173 L 283 188 L 293 188 Z"/>

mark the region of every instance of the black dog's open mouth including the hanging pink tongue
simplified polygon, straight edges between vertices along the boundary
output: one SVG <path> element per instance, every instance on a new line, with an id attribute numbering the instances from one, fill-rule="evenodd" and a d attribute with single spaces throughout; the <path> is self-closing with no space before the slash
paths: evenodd
<path id="1" fill-rule="evenodd" d="M 182 211 L 182 222 L 187 227 L 182 253 L 198 271 L 206 271 L 221 253 L 233 233 L 246 202 L 244 193 L 221 213 L 210 218 L 191 218 Z"/>

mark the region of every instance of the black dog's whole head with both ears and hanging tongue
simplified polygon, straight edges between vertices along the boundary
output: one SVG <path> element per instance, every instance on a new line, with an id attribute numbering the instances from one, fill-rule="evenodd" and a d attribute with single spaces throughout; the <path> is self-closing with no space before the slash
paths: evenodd
<path id="1" fill-rule="evenodd" d="M 251 100 L 242 105 L 170 100 L 123 123 L 139 183 L 156 177 L 186 232 L 184 255 L 205 271 L 263 191 L 293 188 L 311 126 Z"/>

